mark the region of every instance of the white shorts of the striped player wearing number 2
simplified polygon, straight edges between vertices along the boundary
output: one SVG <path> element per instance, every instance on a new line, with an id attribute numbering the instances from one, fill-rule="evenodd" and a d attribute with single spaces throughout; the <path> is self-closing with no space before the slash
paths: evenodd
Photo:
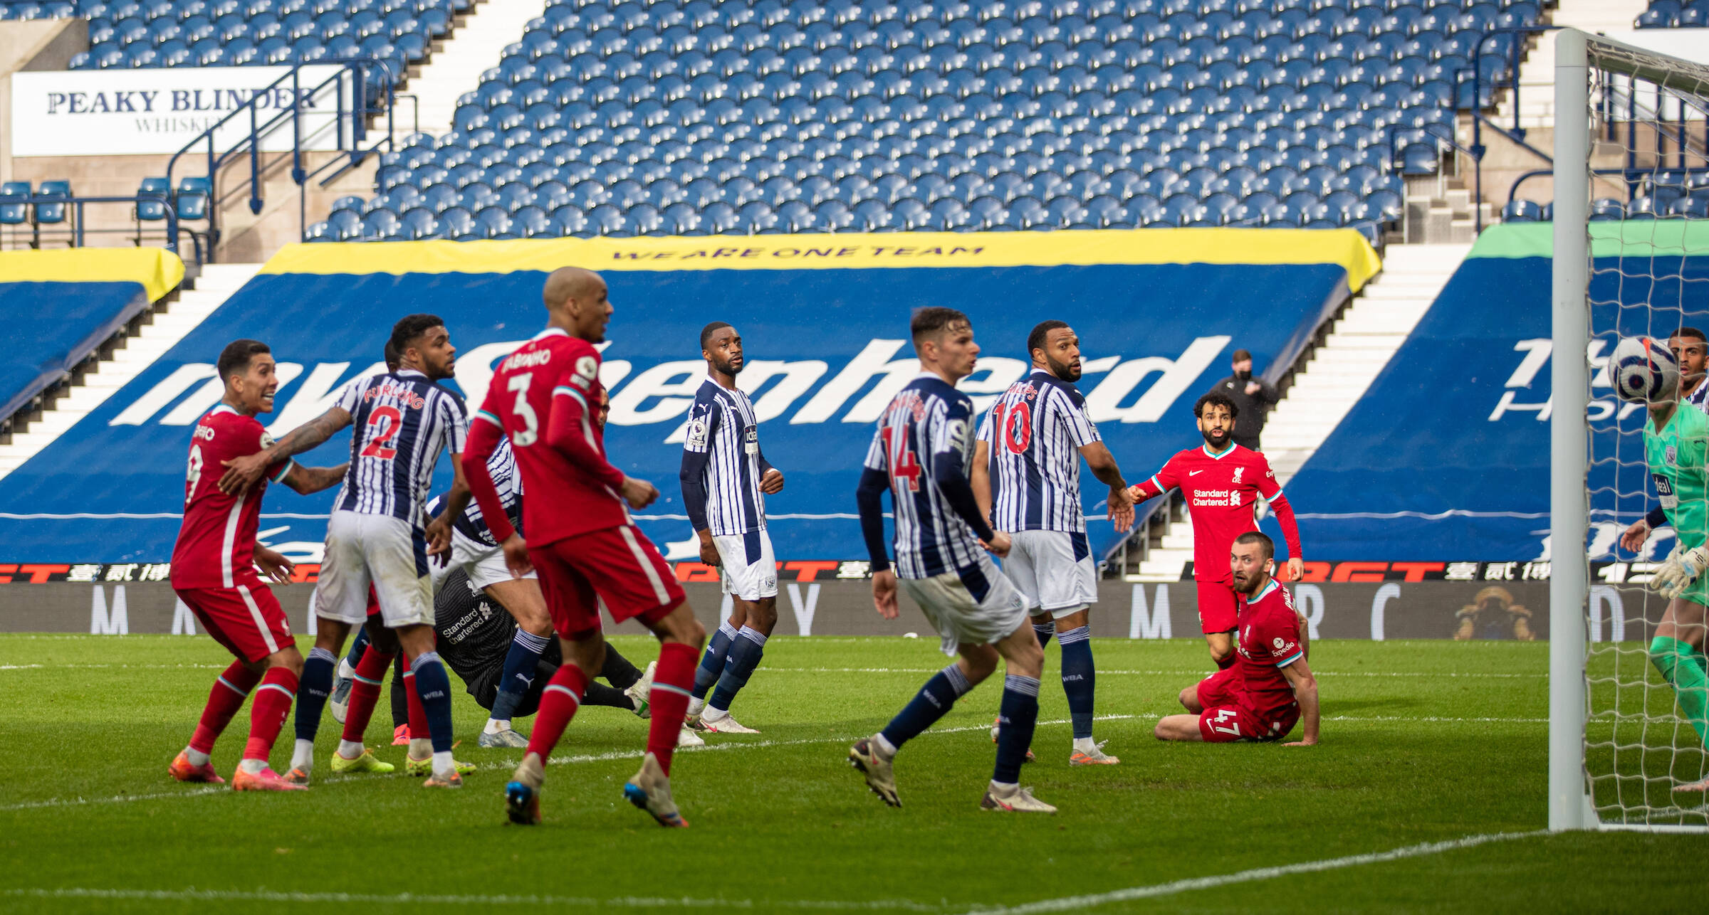
<path id="1" fill-rule="evenodd" d="M 391 516 L 333 512 L 314 587 L 316 616 L 362 625 L 367 621 L 367 586 L 374 586 L 386 627 L 432 625 L 432 579 L 422 531 Z"/>

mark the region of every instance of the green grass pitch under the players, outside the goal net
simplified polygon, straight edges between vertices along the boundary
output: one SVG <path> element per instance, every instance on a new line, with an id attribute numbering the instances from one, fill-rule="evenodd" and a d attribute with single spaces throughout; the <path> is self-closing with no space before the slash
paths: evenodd
<path id="1" fill-rule="evenodd" d="M 646 638 L 614 644 L 639 664 L 655 656 Z M 672 782 L 692 828 L 660 830 L 622 801 L 646 722 L 614 708 L 576 717 L 547 766 L 545 821 L 520 828 L 506 823 L 501 792 L 521 749 L 473 746 L 484 714 L 467 693 L 456 693 L 458 758 L 480 770 L 463 790 L 328 775 L 338 737 L 328 715 L 313 790 L 234 794 L 166 773 L 226 664 L 214 640 L 0 635 L 0 910 L 1700 905 L 1709 836 L 1540 833 L 1547 644 L 1318 642 L 1314 748 L 1160 744 L 1154 722 L 1208 671 L 1203 644 L 1101 638 L 1094 650 L 1097 737 L 1121 765 L 1068 766 L 1051 645 L 1039 761 L 1022 782 L 1058 816 L 978 806 L 1000 678 L 902 749 L 904 806 L 885 807 L 848 766 L 848 744 L 945 662 L 935 640 L 781 637 L 735 705 L 762 734 L 713 736 L 677 755 Z M 369 743 L 390 743 L 386 708 L 381 700 Z M 214 753 L 227 777 L 246 731 L 248 707 Z M 289 755 L 291 722 L 273 765 Z M 403 748 L 378 755 L 402 763 Z"/>

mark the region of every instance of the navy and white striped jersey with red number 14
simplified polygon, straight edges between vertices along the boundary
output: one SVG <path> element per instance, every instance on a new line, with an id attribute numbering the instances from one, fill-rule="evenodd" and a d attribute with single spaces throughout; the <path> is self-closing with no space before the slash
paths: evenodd
<path id="1" fill-rule="evenodd" d="M 935 476 L 942 461 L 966 476 L 972 442 L 972 399 L 931 372 L 907 382 L 878 417 L 866 466 L 890 478 L 897 575 L 930 579 L 978 567 L 979 539 Z"/>

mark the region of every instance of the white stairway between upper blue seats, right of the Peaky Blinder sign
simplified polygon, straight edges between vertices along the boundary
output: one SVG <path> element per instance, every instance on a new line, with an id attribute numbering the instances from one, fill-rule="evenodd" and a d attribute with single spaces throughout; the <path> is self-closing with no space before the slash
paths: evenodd
<path id="1" fill-rule="evenodd" d="M 530 19 L 545 12 L 545 0 L 489 0 L 475 3 L 463 24 L 436 50 L 420 75 L 410 77 L 410 92 L 420 104 L 420 130 L 434 137 L 451 131 L 451 116 L 470 85 L 499 65 L 504 48 L 516 41 Z"/>

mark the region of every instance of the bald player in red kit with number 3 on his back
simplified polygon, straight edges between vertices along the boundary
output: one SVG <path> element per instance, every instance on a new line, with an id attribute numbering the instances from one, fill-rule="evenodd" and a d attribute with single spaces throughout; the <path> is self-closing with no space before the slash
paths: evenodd
<path id="1" fill-rule="evenodd" d="M 605 458 L 603 430 L 593 425 L 591 405 L 603 391 L 593 343 L 605 340 L 612 318 L 605 280 L 566 266 L 547 277 L 543 299 L 547 329 L 499 362 L 463 456 L 463 473 L 511 572 L 538 568 L 564 647 L 564 666 L 542 693 L 528 753 L 504 789 L 509 818 L 523 825 L 540 821 L 545 758 L 581 705 L 590 676 L 602 667 L 603 603 L 614 620 L 639 620 L 661 642 L 646 755 L 624 785 L 624 797 L 661 826 L 687 826 L 670 794 L 670 761 L 706 630 L 694 620 L 665 558 L 629 517 L 625 502 L 643 509 L 658 498 L 658 490 L 614 468 Z M 487 475 L 487 458 L 501 435 L 516 451 L 528 493 L 526 543 L 511 527 Z"/>

